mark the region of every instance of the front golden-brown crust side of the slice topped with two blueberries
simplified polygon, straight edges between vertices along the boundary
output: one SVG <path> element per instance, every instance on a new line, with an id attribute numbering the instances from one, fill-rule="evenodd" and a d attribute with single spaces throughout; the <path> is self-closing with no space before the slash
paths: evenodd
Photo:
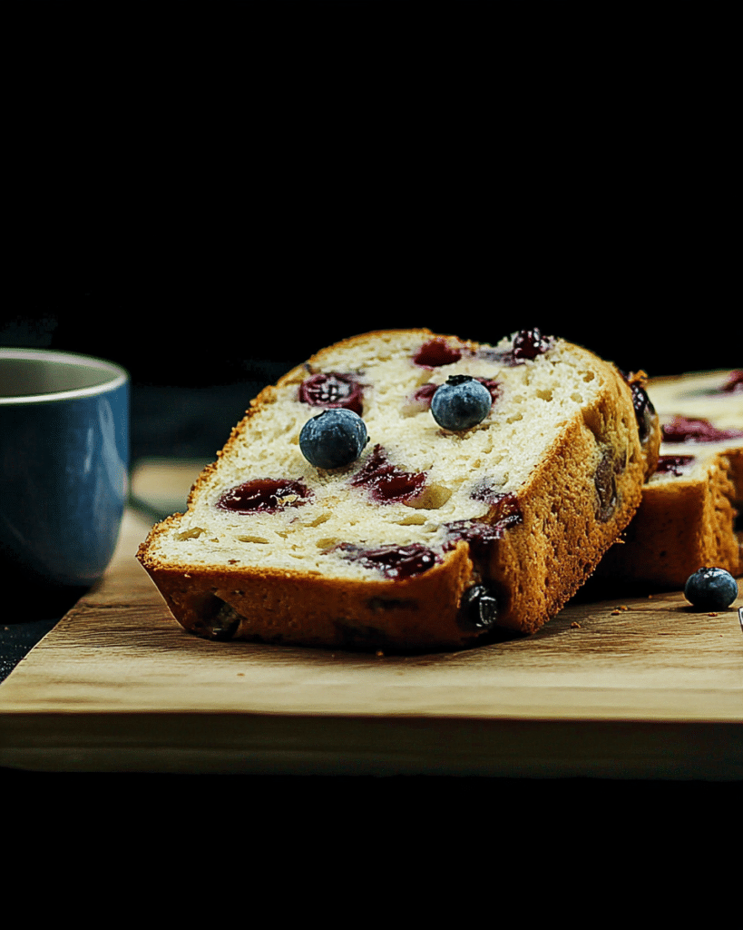
<path id="1" fill-rule="evenodd" d="M 462 646 L 473 637 L 458 622 L 472 572 L 463 543 L 443 564 L 401 581 L 145 567 L 179 622 L 207 638 L 223 638 L 222 621 L 215 633 L 218 611 L 235 623 L 224 638 L 269 643 L 432 649 Z"/>

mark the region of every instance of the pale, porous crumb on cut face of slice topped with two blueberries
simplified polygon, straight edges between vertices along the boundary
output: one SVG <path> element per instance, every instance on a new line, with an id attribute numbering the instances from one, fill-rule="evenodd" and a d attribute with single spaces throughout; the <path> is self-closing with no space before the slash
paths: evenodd
<path id="1" fill-rule="evenodd" d="M 485 479 L 494 494 L 518 495 L 565 424 L 601 389 L 596 360 L 557 340 L 536 359 L 507 365 L 507 340 L 493 352 L 487 351 L 490 347 L 467 352 L 468 343 L 447 341 L 463 351 L 462 357 L 430 368 L 413 361 L 422 345 L 420 332 L 352 340 L 320 352 L 305 370 L 295 369 L 263 392 L 233 432 L 218 469 L 196 487 L 189 512 L 154 538 L 150 559 L 189 567 L 251 565 L 367 578 L 376 570 L 345 558 L 339 544 L 419 543 L 440 550 L 446 525 L 487 516 L 489 501 L 473 496 Z M 303 425 L 320 411 L 299 400 L 298 387 L 312 374 L 331 372 L 351 373 L 363 385 L 370 442 L 352 465 L 322 471 L 299 449 Z M 428 405 L 416 406 L 414 400 L 424 384 L 443 384 L 451 375 L 498 385 L 489 416 L 463 433 L 439 428 Z M 420 493 L 380 503 L 368 487 L 352 484 L 379 445 L 401 472 L 424 474 Z M 229 512 L 217 506 L 225 492 L 254 479 L 296 481 L 309 493 L 304 499 L 281 498 L 276 512 Z"/>

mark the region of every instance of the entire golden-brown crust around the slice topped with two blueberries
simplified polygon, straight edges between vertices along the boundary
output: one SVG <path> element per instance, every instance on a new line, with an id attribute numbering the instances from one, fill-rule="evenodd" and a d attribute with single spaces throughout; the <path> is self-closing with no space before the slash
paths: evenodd
<path id="1" fill-rule="evenodd" d="M 442 338 L 429 329 L 407 332 L 422 340 Z M 281 388 L 320 370 L 338 345 L 393 342 L 398 334 L 383 330 L 344 340 L 260 392 L 217 461 L 191 489 L 189 508 L 211 486 L 220 460 L 246 441 L 258 411 L 277 402 Z M 334 648 L 460 648 L 492 636 L 463 613 L 463 592 L 481 582 L 497 592 L 498 628 L 536 631 L 578 590 L 629 524 L 645 472 L 658 454 L 656 432 L 645 446 L 640 442 L 625 380 L 612 365 L 586 354 L 601 372 L 601 390 L 564 425 L 519 489 L 521 522 L 510 525 L 485 555 L 460 540 L 442 553 L 440 564 L 404 579 L 332 578 L 265 566 L 195 568 L 166 564 L 154 552 L 159 538 L 177 530 L 181 515 L 176 514 L 152 529 L 137 558 L 178 622 L 211 639 Z M 493 509 L 482 522 L 495 517 Z"/>

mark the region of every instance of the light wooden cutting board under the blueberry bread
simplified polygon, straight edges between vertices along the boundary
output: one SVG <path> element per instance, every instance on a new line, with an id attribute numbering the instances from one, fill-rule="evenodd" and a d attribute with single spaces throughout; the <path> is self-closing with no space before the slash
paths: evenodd
<path id="1" fill-rule="evenodd" d="M 528 639 L 415 657 L 209 643 L 136 562 L 149 527 L 127 513 L 105 578 L 0 684 L 0 765 L 743 777 L 736 609 L 570 604 Z"/>

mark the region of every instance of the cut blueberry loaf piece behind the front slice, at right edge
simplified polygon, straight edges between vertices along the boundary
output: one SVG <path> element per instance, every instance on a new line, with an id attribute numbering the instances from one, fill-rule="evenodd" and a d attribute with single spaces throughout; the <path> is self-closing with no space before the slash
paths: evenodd
<path id="1" fill-rule="evenodd" d="M 658 468 L 596 577 L 671 589 L 703 566 L 743 575 L 743 372 L 652 379 L 647 392 L 661 423 Z"/>

